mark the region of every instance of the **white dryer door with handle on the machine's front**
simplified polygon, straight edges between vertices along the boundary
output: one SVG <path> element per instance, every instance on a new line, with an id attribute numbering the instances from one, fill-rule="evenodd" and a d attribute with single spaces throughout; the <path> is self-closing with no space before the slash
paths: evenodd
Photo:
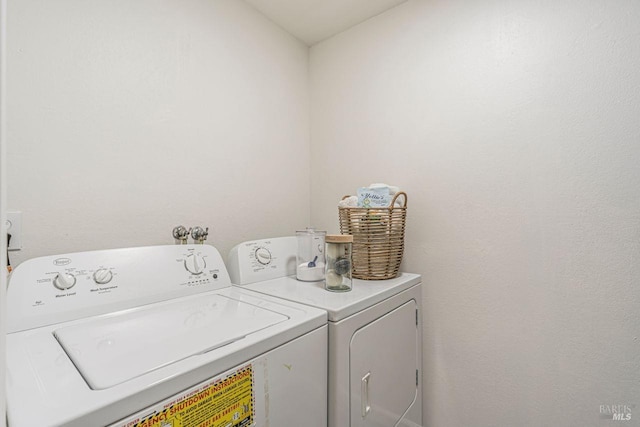
<path id="1" fill-rule="evenodd" d="M 416 399 L 417 305 L 408 301 L 360 328 L 350 346 L 351 426 L 395 426 Z"/>

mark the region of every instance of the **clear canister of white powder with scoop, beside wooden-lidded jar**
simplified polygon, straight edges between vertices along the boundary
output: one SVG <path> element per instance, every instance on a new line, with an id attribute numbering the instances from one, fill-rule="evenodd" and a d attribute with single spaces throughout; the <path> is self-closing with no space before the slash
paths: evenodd
<path id="1" fill-rule="evenodd" d="M 298 254 L 296 278 L 303 282 L 319 282 L 324 279 L 324 238 L 326 231 L 307 227 L 296 231 Z"/>

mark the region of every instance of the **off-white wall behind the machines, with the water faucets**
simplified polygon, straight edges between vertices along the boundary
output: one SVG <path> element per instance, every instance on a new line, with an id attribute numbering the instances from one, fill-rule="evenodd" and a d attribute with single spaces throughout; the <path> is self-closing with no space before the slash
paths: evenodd
<path id="1" fill-rule="evenodd" d="M 309 222 L 308 48 L 237 0 L 9 0 L 12 262 Z"/>

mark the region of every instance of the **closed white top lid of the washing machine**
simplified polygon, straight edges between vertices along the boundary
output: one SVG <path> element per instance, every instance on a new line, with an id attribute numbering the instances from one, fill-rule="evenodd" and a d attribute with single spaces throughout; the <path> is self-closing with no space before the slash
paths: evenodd
<path id="1" fill-rule="evenodd" d="M 54 331 L 94 390 L 120 384 L 288 319 L 218 294 L 106 315 Z"/>

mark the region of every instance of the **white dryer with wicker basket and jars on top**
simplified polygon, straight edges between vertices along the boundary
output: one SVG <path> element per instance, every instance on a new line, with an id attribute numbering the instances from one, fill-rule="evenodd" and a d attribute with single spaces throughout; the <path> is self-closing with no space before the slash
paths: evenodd
<path id="1" fill-rule="evenodd" d="M 329 292 L 296 280 L 296 250 L 295 237 L 244 242 L 227 265 L 243 289 L 327 311 L 329 426 L 421 426 L 421 276 L 356 279 L 350 292 Z"/>

